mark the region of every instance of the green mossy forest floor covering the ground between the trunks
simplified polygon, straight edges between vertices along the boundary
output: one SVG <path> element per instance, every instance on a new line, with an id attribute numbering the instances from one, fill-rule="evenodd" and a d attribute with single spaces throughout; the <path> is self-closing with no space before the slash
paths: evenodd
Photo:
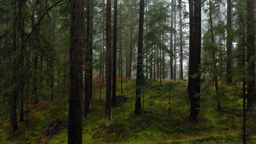
<path id="1" fill-rule="evenodd" d="M 105 127 L 105 88 L 100 101 L 99 86 L 94 86 L 97 89 L 93 89 L 91 112 L 88 119 L 83 117 L 83 143 L 242 143 L 242 98 L 235 100 L 236 106 L 223 103 L 224 108 L 218 112 L 212 94 L 201 95 L 200 121 L 191 123 L 187 82 L 163 80 L 160 85 L 154 80 L 142 88 L 144 115 L 134 118 L 136 81 L 124 79 L 123 94 L 120 80 L 117 82 L 117 95 L 122 96 L 118 96 L 118 107 L 112 109 L 109 127 Z M 1 117 L 0 143 L 67 143 L 68 93 L 69 89 L 64 88 L 53 101 L 29 105 L 28 127 L 26 122 L 18 122 L 15 133 L 11 132 L 8 116 Z M 229 96 L 225 97 L 227 100 Z M 48 125 L 56 122 L 61 130 L 58 135 L 40 137 Z M 255 113 L 248 113 L 246 124 L 248 143 L 256 143 Z"/>

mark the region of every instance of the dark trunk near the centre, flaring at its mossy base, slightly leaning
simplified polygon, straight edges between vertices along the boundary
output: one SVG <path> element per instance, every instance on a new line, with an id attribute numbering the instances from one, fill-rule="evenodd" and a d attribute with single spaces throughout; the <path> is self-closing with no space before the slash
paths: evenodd
<path id="1" fill-rule="evenodd" d="M 143 113 L 141 108 L 141 86 L 144 81 L 143 73 L 143 24 L 144 24 L 144 0 L 139 2 L 139 35 L 138 35 L 138 58 L 137 58 L 137 74 L 136 74 L 136 101 L 135 101 L 135 116 Z"/>

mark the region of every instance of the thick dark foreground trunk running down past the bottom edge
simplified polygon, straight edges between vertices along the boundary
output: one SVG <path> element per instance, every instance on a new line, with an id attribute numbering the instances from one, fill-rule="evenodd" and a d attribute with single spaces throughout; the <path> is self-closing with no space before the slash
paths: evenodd
<path id="1" fill-rule="evenodd" d="M 70 1 L 68 143 L 82 143 L 84 1 Z"/>

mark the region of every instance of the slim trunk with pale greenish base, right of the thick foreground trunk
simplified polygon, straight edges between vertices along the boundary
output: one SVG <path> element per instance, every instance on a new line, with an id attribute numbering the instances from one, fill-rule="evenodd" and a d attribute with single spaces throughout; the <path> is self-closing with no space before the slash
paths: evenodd
<path id="1" fill-rule="evenodd" d="M 111 0 L 106 4 L 106 126 L 111 121 Z"/>

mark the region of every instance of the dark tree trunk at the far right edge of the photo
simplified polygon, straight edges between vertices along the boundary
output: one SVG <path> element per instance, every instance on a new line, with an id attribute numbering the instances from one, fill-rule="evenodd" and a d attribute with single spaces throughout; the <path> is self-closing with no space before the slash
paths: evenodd
<path id="1" fill-rule="evenodd" d="M 248 62 L 248 76 L 250 79 L 247 81 L 248 85 L 248 99 L 247 110 L 253 111 L 256 109 L 256 94 L 255 94 L 255 28 L 254 28 L 254 1 L 246 1 L 246 9 L 248 13 L 247 18 L 247 62 Z"/>

